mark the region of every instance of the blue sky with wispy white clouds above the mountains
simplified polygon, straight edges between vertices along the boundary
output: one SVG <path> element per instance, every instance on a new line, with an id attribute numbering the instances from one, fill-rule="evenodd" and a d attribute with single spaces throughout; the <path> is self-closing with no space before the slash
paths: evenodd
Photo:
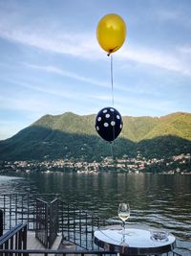
<path id="1" fill-rule="evenodd" d="M 0 139 L 45 114 L 112 105 L 110 58 L 96 40 L 111 12 L 127 25 L 113 55 L 117 110 L 191 112 L 191 1 L 0 0 Z"/>

